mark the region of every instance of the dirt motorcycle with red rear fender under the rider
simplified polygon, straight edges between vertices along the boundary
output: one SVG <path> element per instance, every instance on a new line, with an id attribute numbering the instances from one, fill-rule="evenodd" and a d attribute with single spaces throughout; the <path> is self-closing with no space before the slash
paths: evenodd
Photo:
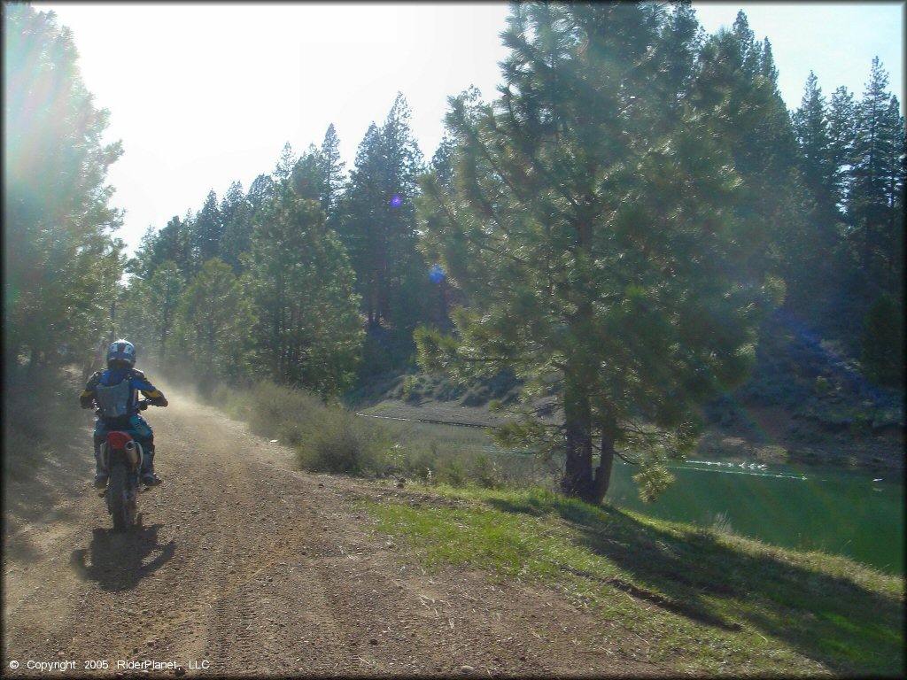
<path id="1" fill-rule="evenodd" d="M 149 403 L 140 401 L 139 409 L 144 411 Z M 139 492 L 143 487 L 142 462 L 147 455 L 141 443 L 132 438 L 132 433 L 124 430 L 107 432 L 107 438 L 101 444 L 101 470 L 108 475 L 107 490 L 102 496 L 107 501 L 107 511 L 116 531 L 130 529 L 135 524 Z"/>

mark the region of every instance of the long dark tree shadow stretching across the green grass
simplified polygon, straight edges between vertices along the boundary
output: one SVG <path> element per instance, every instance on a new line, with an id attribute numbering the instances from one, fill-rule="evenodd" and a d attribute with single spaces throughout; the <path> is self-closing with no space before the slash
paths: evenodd
<path id="1" fill-rule="evenodd" d="M 886 597 L 780 555 L 735 549 L 709 530 L 675 534 L 607 505 L 534 497 L 488 502 L 507 512 L 559 514 L 576 530 L 580 545 L 632 577 L 627 582 L 576 574 L 602 587 L 628 592 L 697 624 L 728 632 L 749 627 L 784 639 L 834 671 L 904 671 L 903 593 Z"/>

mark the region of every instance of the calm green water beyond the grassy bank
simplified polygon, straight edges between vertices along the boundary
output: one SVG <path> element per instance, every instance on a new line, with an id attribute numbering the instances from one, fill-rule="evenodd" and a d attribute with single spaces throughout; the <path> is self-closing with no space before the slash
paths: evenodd
<path id="1" fill-rule="evenodd" d="M 654 503 L 639 500 L 634 466 L 615 461 L 607 500 L 664 520 L 711 526 L 786 548 L 845 555 L 904 573 L 904 487 L 896 471 L 688 462 Z M 882 478 L 882 481 L 873 479 Z"/>

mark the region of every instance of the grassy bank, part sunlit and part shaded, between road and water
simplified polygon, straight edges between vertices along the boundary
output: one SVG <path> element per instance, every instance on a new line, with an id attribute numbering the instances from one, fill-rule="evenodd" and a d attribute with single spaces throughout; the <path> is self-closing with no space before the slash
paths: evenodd
<path id="1" fill-rule="evenodd" d="M 550 491 L 434 491 L 471 502 L 367 506 L 426 568 L 556 588 L 677 673 L 904 673 L 902 578 Z"/>

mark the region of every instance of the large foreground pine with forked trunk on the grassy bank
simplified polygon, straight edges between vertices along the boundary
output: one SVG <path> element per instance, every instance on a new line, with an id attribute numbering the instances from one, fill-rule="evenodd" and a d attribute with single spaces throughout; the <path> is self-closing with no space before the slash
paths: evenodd
<path id="1" fill-rule="evenodd" d="M 697 403 L 746 377 L 776 292 L 747 262 L 762 237 L 719 133 L 727 112 L 684 96 L 665 125 L 677 80 L 649 58 L 662 21 L 640 5 L 513 5 L 501 96 L 451 101 L 456 180 L 427 173 L 419 200 L 426 257 L 469 300 L 455 336 L 418 331 L 420 363 L 512 368 L 527 419 L 502 441 L 564 452 L 562 490 L 592 501 L 629 451 L 642 492 L 664 489 Z M 549 393 L 555 426 L 532 417 Z"/>

